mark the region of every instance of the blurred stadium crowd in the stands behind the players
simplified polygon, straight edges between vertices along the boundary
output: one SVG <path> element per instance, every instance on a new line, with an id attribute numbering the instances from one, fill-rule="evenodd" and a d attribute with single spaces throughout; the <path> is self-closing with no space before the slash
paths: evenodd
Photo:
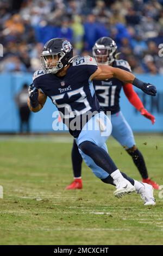
<path id="1" fill-rule="evenodd" d="M 91 54 L 101 36 L 114 39 L 138 73 L 163 74 L 163 0 L 1 0 L 0 71 L 35 71 L 51 38 L 70 40 L 74 54 Z"/>

